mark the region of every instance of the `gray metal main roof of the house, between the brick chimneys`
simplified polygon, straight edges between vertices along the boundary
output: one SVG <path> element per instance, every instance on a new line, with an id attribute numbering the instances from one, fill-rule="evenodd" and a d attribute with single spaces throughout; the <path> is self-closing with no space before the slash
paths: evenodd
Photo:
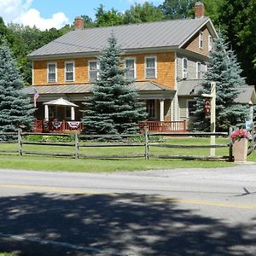
<path id="1" fill-rule="evenodd" d="M 121 49 L 178 47 L 201 26 L 207 24 L 207 21 L 209 18 L 166 20 L 75 30 L 33 51 L 28 57 L 101 51 L 108 45 L 108 38 L 112 32 Z"/>

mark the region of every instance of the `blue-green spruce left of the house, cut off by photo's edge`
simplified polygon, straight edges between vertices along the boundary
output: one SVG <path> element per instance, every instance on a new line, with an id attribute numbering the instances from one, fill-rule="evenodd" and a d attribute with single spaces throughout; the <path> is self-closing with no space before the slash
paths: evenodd
<path id="1" fill-rule="evenodd" d="M 0 131 L 32 128 L 34 109 L 26 94 L 19 69 L 9 47 L 0 45 Z"/>

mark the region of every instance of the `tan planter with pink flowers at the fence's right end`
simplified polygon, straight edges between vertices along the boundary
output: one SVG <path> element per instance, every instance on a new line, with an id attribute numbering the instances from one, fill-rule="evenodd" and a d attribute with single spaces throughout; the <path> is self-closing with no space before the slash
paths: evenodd
<path id="1" fill-rule="evenodd" d="M 235 162 L 245 162 L 247 160 L 247 131 L 238 129 L 231 133 L 231 137 Z"/>

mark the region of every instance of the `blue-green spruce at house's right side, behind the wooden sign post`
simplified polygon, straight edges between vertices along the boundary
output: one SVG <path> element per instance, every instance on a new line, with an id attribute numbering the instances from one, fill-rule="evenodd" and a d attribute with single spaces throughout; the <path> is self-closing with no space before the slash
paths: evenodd
<path id="1" fill-rule="evenodd" d="M 199 94 L 210 93 L 211 82 L 216 82 L 216 130 L 227 131 L 230 125 L 245 122 L 248 116 L 248 106 L 234 102 L 241 92 L 241 86 L 246 85 L 241 77 L 241 68 L 236 59 L 236 54 L 228 50 L 224 38 L 220 35 L 215 42 L 215 50 L 210 53 L 207 63 L 207 72 L 202 82 Z M 195 127 L 208 130 L 210 119 L 205 117 L 204 101 L 197 98 L 195 111 Z"/>

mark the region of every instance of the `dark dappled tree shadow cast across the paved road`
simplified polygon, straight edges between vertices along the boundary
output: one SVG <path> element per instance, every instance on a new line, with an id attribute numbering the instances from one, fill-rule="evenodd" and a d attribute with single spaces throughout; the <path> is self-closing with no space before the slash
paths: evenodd
<path id="1" fill-rule="evenodd" d="M 149 195 L 0 198 L 0 252 L 20 255 L 255 255 L 253 229 Z"/>

